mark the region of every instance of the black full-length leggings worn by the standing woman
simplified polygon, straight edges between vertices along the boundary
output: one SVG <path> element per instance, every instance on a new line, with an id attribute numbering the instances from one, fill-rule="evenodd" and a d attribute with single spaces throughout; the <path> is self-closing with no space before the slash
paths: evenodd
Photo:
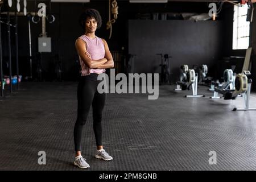
<path id="1" fill-rule="evenodd" d="M 97 146 L 102 145 L 101 118 L 106 94 L 98 93 L 97 86 L 101 80 L 97 80 L 97 76 L 97 73 L 82 76 L 77 87 L 77 120 L 74 127 L 75 151 L 81 151 L 82 128 L 85 125 L 91 105 L 93 108 L 93 131 L 96 144 Z"/>

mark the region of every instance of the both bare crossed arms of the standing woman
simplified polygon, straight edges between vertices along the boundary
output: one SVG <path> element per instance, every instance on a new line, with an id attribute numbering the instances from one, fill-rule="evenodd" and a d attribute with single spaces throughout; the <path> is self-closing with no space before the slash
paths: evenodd
<path id="1" fill-rule="evenodd" d="M 76 40 L 76 50 L 79 56 L 81 57 L 82 61 L 84 61 L 84 64 L 86 67 L 91 69 L 104 69 L 104 68 L 113 68 L 114 67 L 114 60 L 113 57 L 109 51 L 108 44 L 106 43 L 106 40 L 102 39 L 104 42 L 104 48 L 105 48 L 105 57 L 98 60 L 92 60 L 90 57 L 89 52 L 86 50 L 86 43 L 82 39 Z"/>

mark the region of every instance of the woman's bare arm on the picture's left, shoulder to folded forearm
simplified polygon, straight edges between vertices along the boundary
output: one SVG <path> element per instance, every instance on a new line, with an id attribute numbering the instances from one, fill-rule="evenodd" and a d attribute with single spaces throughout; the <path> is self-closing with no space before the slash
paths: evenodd
<path id="1" fill-rule="evenodd" d="M 106 58 L 100 60 L 92 60 L 88 56 L 86 56 L 86 45 L 82 39 L 76 39 L 76 50 L 78 55 L 81 57 L 82 61 L 84 61 L 86 67 L 90 69 L 98 68 L 100 65 L 108 61 Z"/>

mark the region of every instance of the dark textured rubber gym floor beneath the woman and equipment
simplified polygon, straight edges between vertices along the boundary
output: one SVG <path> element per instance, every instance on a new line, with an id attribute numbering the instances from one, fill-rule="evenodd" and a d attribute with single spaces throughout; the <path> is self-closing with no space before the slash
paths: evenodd
<path id="1" fill-rule="evenodd" d="M 82 155 L 89 169 L 73 166 L 77 82 L 22 82 L 0 98 L 0 170 L 255 170 L 256 111 L 232 111 L 237 100 L 184 98 L 174 85 L 147 94 L 108 94 L 103 143 L 114 160 L 95 159 L 92 110 L 84 127 Z M 7 90 L 6 90 L 7 91 Z M 256 95 L 251 94 L 256 107 Z M 39 165 L 39 151 L 46 164 Z M 209 164 L 210 151 L 217 164 Z"/>

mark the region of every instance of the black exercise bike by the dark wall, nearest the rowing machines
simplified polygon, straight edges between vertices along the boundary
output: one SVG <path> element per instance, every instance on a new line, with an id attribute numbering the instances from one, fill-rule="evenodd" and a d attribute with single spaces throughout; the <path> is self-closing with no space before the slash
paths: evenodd
<path id="1" fill-rule="evenodd" d="M 160 73 L 160 84 L 170 84 L 171 85 L 171 63 L 170 63 L 170 58 L 167 53 L 162 54 L 162 53 L 157 53 L 156 55 L 161 56 L 161 64 L 159 65 L 161 68 L 161 73 Z"/>

